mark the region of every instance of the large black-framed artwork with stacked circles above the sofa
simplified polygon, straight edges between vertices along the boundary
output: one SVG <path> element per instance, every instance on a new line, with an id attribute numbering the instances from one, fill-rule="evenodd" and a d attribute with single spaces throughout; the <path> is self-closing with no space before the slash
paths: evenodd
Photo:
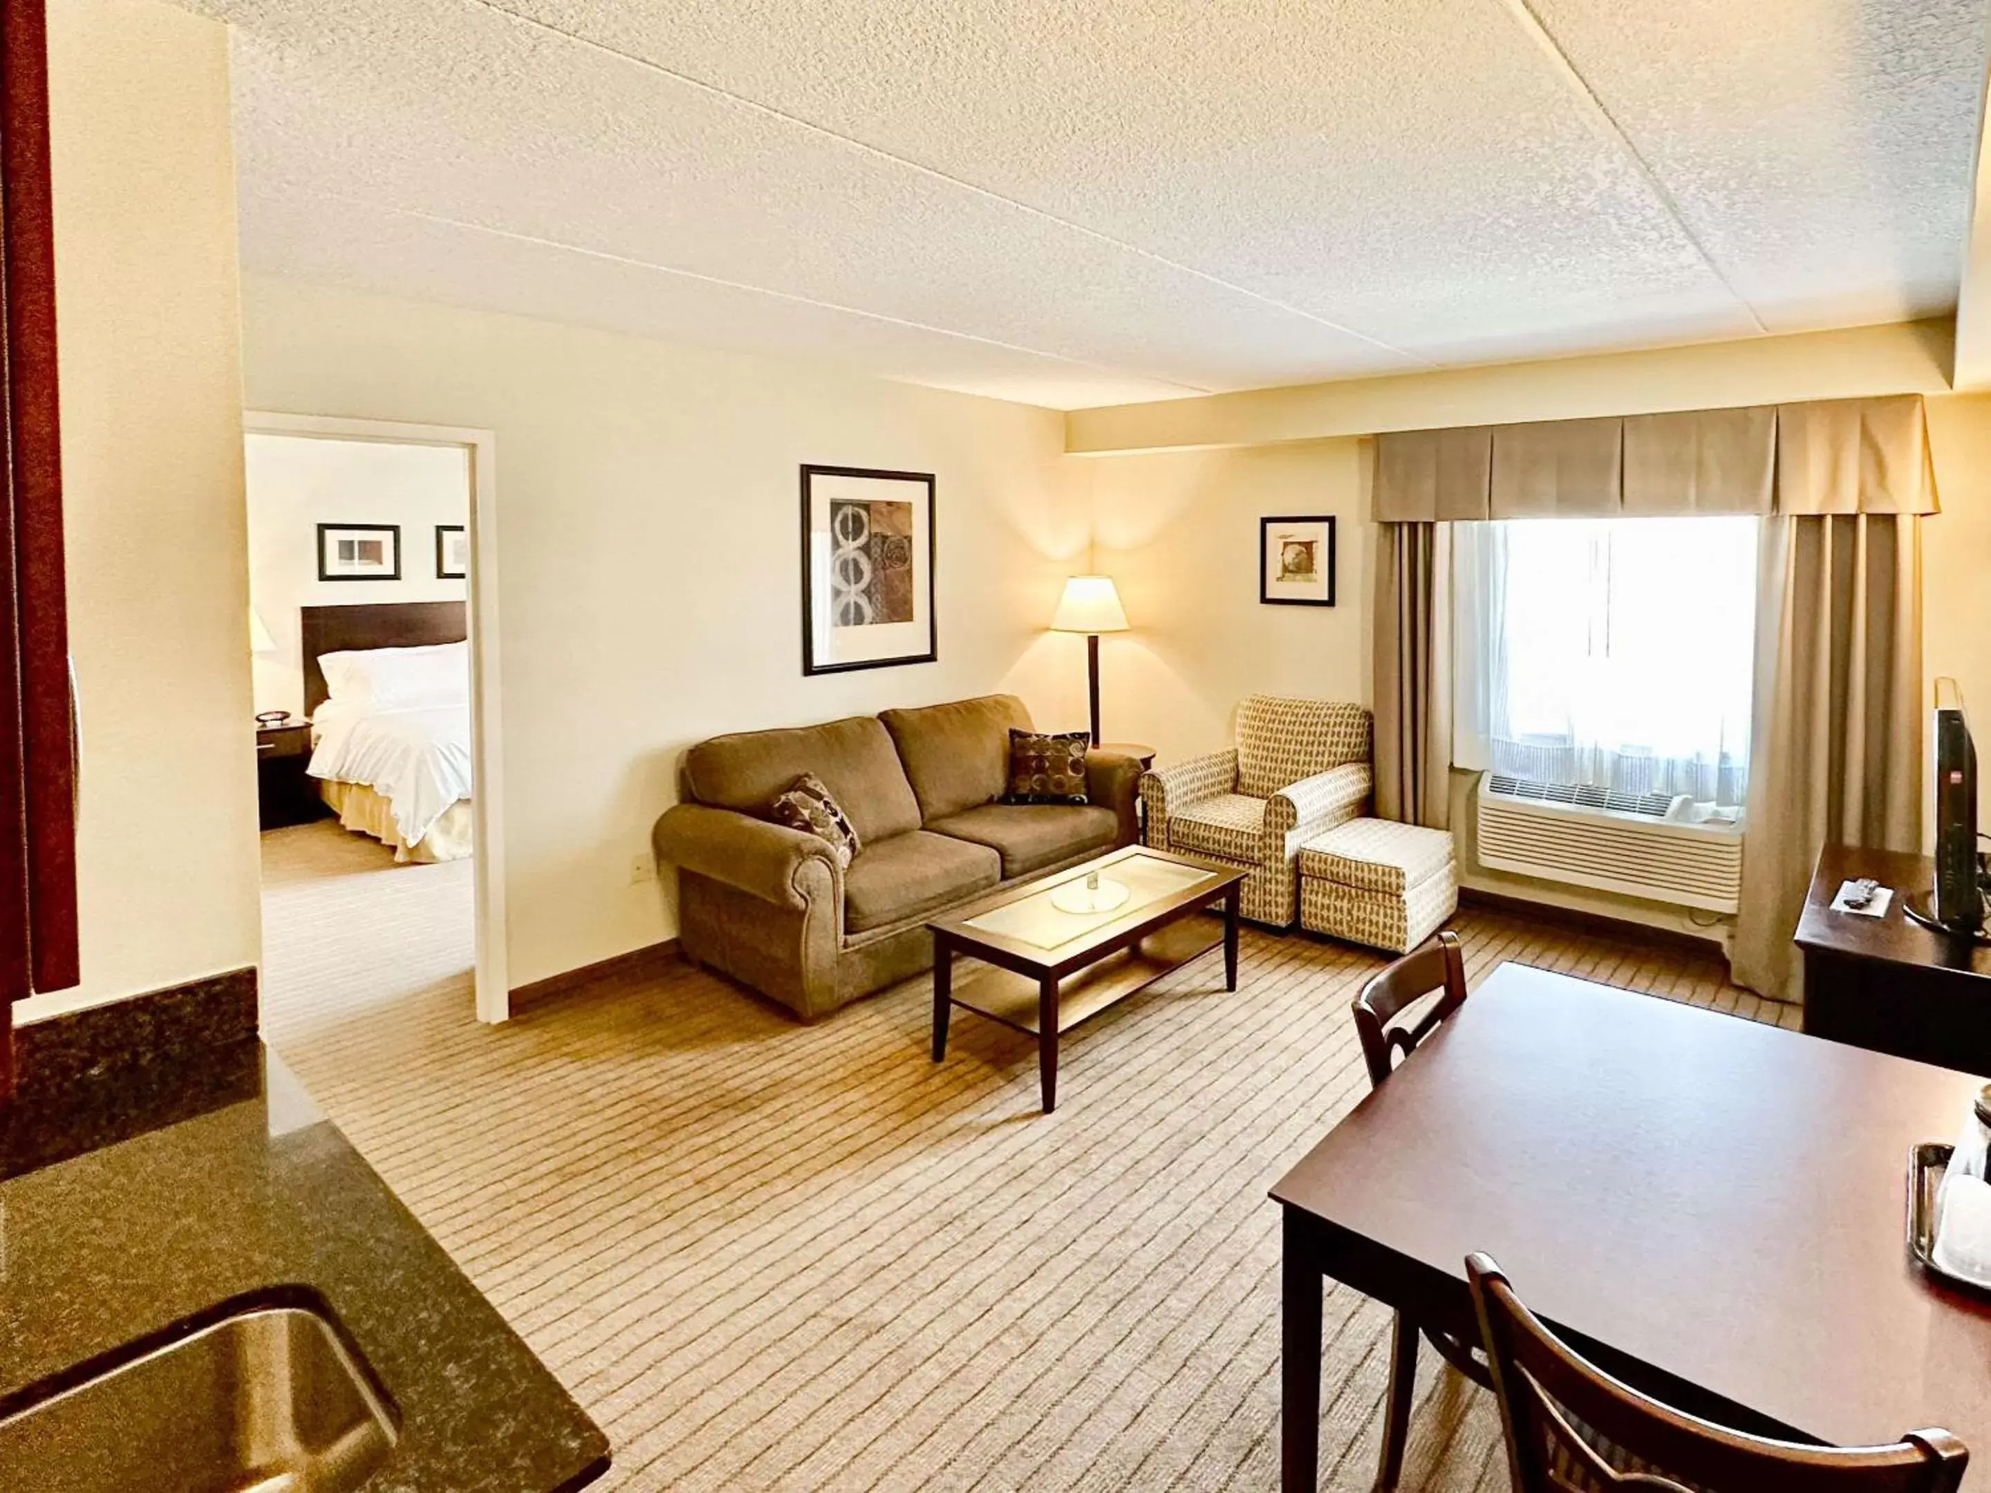
<path id="1" fill-rule="evenodd" d="M 934 474 L 802 468 L 802 673 L 940 657 Z"/>

